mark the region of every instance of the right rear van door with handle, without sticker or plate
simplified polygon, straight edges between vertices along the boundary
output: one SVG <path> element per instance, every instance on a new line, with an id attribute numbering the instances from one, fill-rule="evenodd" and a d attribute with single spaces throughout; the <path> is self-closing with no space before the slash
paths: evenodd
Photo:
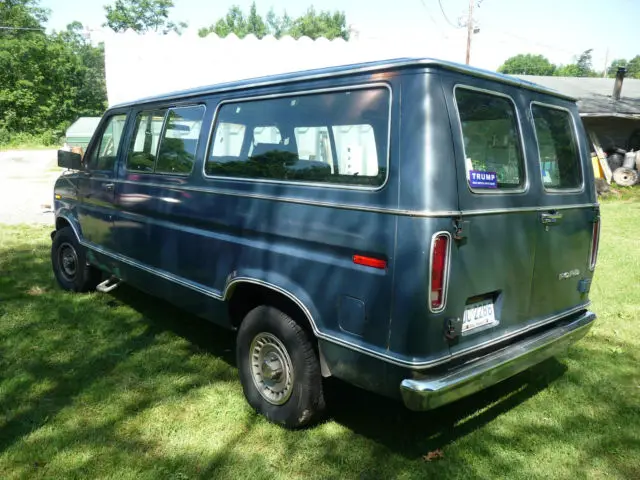
<path id="1" fill-rule="evenodd" d="M 547 206 L 537 219 L 530 316 L 542 319 L 587 302 L 599 214 L 589 187 L 588 152 L 581 152 L 578 141 L 577 113 L 534 102 L 531 114 Z"/>

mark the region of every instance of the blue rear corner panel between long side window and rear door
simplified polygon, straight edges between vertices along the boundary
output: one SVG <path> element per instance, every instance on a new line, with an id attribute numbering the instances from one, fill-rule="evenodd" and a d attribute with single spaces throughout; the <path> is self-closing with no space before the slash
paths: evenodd
<path id="1" fill-rule="evenodd" d="M 432 236 L 453 232 L 458 209 L 451 127 L 440 76 L 428 70 L 403 77 L 398 247 L 389 349 L 428 361 L 449 355 L 446 312 L 429 311 Z"/>

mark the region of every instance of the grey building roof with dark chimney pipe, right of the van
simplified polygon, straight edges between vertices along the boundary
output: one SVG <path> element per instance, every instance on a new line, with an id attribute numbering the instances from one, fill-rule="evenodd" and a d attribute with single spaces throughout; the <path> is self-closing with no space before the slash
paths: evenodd
<path id="1" fill-rule="evenodd" d="M 625 78 L 620 100 L 611 97 L 614 78 L 514 75 L 578 99 L 581 114 L 640 115 L 640 80 Z"/>

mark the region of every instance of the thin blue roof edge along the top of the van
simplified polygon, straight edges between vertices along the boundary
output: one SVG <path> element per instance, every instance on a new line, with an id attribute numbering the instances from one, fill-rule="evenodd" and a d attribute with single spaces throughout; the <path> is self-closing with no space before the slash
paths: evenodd
<path id="1" fill-rule="evenodd" d="M 576 101 L 575 98 L 566 94 L 552 90 L 550 88 L 529 82 L 511 75 L 496 73 L 490 70 L 470 67 L 446 60 L 437 60 L 434 58 L 395 58 L 391 60 L 379 60 L 375 62 L 356 63 L 352 65 L 341 65 L 336 67 L 317 68 L 312 70 L 303 70 L 298 72 L 280 73 L 276 75 L 268 75 L 264 77 L 250 78 L 245 80 L 237 80 L 233 82 L 219 83 L 204 87 L 191 88 L 162 95 L 156 95 L 139 100 L 130 101 L 114 105 L 113 108 L 137 105 L 140 103 L 166 102 L 177 100 L 185 97 L 193 97 L 198 95 L 206 95 L 210 93 L 228 92 L 233 90 L 242 90 L 247 88 L 263 87 L 270 85 L 278 85 L 284 83 L 292 83 L 301 80 L 315 80 L 327 77 L 339 77 L 356 73 L 375 73 L 381 71 L 393 71 L 410 67 L 439 67 L 445 70 L 464 73 L 473 77 L 485 78 L 496 82 L 514 85 L 516 87 L 545 93 L 554 97 L 564 98 Z"/>

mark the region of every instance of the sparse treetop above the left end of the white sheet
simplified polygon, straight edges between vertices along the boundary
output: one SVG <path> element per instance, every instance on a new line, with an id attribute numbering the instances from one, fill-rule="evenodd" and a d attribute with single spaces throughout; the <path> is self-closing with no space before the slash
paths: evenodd
<path id="1" fill-rule="evenodd" d="M 169 10 L 173 8 L 173 0 L 116 0 L 113 5 L 106 5 L 104 10 L 107 21 L 103 27 L 114 32 L 131 29 L 134 32 L 169 32 L 182 33 L 187 28 L 184 22 L 169 21 Z"/>

